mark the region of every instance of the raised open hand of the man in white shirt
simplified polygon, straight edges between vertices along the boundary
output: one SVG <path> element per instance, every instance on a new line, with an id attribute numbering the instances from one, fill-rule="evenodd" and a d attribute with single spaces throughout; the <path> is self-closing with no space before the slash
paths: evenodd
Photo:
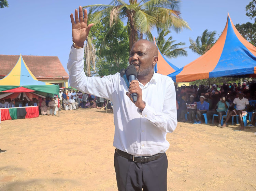
<path id="1" fill-rule="evenodd" d="M 86 40 L 91 27 L 94 25 L 93 23 L 87 26 L 87 10 L 84 10 L 84 18 L 83 18 L 83 8 L 79 6 L 79 18 L 77 9 L 75 10 L 75 20 L 73 17 L 73 13 L 70 15 L 71 23 L 72 23 L 72 38 L 73 42 L 76 46 L 82 47 L 84 45 L 84 41 Z"/>

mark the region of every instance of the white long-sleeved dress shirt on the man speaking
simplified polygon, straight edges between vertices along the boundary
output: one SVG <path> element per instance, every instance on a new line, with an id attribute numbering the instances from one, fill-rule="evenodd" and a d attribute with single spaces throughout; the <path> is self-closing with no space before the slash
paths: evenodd
<path id="1" fill-rule="evenodd" d="M 84 73 L 84 49 L 71 47 L 69 82 L 72 87 L 111 100 L 114 106 L 115 135 L 113 146 L 136 156 L 152 156 L 169 148 L 166 134 L 177 125 L 176 95 L 172 79 L 154 73 L 145 86 L 140 84 L 146 106 L 140 115 L 126 95 L 128 88 L 120 73 L 87 77 Z M 95 129 L 97 133 L 97 129 Z"/>

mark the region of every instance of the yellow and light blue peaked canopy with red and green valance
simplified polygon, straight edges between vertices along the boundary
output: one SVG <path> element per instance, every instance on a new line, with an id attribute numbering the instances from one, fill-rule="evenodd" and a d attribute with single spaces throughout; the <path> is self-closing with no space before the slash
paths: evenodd
<path id="1" fill-rule="evenodd" d="M 58 94 L 59 86 L 38 81 L 20 55 L 11 72 L 0 80 L 1 92 L 45 92 Z"/>

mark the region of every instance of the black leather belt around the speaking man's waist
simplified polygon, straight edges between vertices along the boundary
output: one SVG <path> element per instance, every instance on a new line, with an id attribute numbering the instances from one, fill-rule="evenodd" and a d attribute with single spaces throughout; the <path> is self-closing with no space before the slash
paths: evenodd
<path id="1" fill-rule="evenodd" d="M 116 152 L 117 154 L 121 155 L 122 157 L 125 157 L 127 159 L 130 159 L 134 162 L 150 162 L 150 161 L 153 161 L 153 160 L 156 160 L 158 158 L 160 158 L 160 156 L 162 156 L 163 154 L 165 153 L 158 153 L 156 155 L 153 155 L 153 156 L 134 156 L 134 155 L 130 155 L 124 151 L 121 151 L 119 149 L 116 149 Z"/>

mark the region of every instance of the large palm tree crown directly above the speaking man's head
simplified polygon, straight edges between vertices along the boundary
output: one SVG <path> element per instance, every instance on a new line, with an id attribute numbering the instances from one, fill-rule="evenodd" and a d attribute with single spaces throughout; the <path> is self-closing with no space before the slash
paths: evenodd
<path id="1" fill-rule="evenodd" d="M 129 49 L 143 34 L 151 36 L 151 30 L 174 29 L 176 32 L 189 28 L 187 22 L 181 18 L 179 11 L 180 0 L 112 0 L 109 5 L 95 4 L 83 8 L 90 8 L 89 20 L 100 22 L 103 18 L 109 20 L 111 28 L 119 19 L 127 21 L 129 33 Z M 110 30 L 111 30 L 110 28 Z"/>

